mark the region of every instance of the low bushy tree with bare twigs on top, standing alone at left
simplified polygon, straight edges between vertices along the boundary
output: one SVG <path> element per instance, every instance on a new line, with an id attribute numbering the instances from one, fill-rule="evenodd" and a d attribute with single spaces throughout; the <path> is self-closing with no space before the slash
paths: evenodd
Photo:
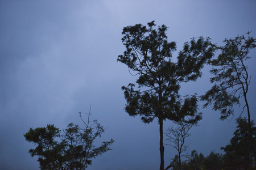
<path id="1" fill-rule="evenodd" d="M 79 113 L 81 117 L 81 112 Z M 97 120 L 84 122 L 85 128 L 73 123 L 67 129 L 59 130 L 54 125 L 43 128 L 35 128 L 24 134 L 26 141 L 32 142 L 36 148 L 30 149 L 32 157 L 38 156 L 41 169 L 85 169 L 92 164 L 96 156 L 111 150 L 114 142 L 102 142 L 100 146 L 94 146 L 97 138 L 106 130 Z M 82 119 L 82 117 L 81 117 Z"/>

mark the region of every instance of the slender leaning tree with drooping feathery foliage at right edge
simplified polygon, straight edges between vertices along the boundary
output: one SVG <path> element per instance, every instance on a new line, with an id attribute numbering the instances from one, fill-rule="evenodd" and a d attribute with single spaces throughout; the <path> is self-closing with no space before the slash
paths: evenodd
<path id="1" fill-rule="evenodd" d="M 234 114 L 233 106 L 240 105 L 243 99 L 245 102 L 243 110 L 246 108 L 248 131 L 252 140 L 250 108 L 247 100 L 251 77 L 247 71 L 246 61 L 251 58 L 249 52 L 256 47 L 256 39 L 250 37 L 250 32 L 247 35 L 247 37 L 237 36 L 234 39 L 225 39 L 224 46 L 215 45 L 216 49 L 221 50 L 217 59 L 209 61 L 213 66 L 210 72 L 214 75 L 210 82 L 215 84 L 204 96 L 201 96 L 201 100 L 207 101 L 204 107 L 213 105 L 214 111 L 221 112 L 220 119 L 225 120 Z M 249 145 L 249 147 L 252 146 Z M 254 154 L 256 155 L 255 150 Z"/>

